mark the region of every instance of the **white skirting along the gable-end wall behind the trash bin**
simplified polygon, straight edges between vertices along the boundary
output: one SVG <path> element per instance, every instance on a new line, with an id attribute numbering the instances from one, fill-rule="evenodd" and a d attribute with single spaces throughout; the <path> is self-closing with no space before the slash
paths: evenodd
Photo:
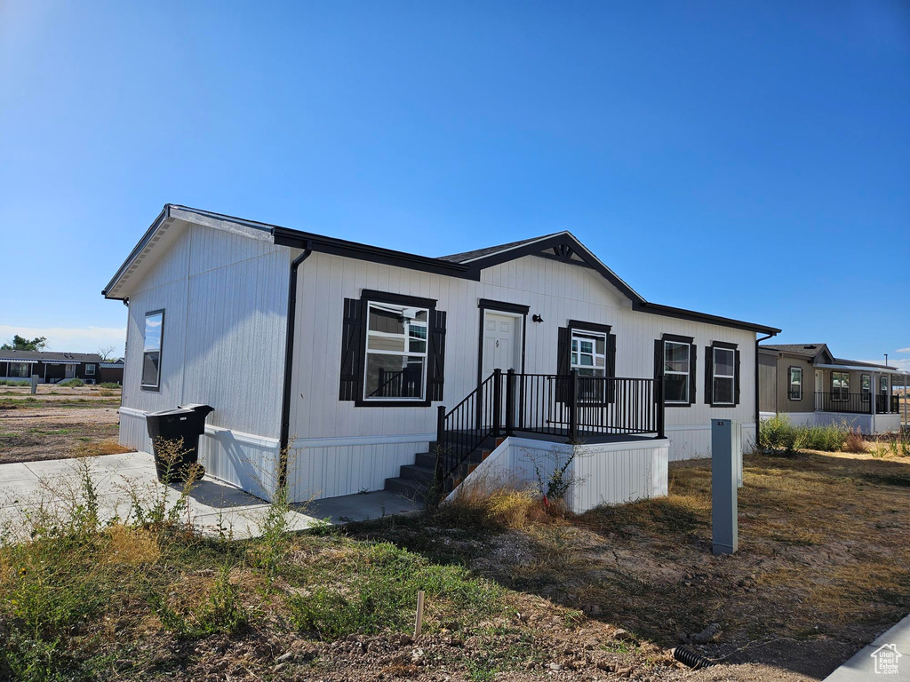
<path id="1" fill-rule="evenodd" d="M 145 412 L 120 408 L 120 445 L 139 452 L 152 451 Z M 217 426 L 207 425 L 206 433 L 199 438 L 199 462 L 206 467 L 208 476 L 267 500 L 278 484 L 279 452 L 277 438 Z"/>

